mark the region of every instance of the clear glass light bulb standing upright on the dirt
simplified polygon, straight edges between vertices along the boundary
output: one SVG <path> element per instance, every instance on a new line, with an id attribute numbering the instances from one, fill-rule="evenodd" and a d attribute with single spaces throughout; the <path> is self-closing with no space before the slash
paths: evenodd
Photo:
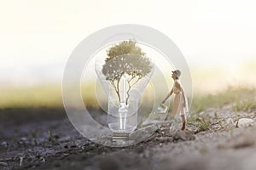
<path id="1" fill-rule="evenodd" d="M 139 101 L 154 72 L 146 56 L 124 54 L 96 59 L 96 74 L 108 96 L 108 127 L 113 133 L 132 133 L 137 128 Z"/>

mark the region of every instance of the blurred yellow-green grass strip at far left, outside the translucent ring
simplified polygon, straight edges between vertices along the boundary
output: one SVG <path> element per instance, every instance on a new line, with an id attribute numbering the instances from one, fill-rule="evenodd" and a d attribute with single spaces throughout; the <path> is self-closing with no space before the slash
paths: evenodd
<path id="1" fill-rule="evenodd" d="M 0 88 L 0 108 L 62 107 L 61 84 Z"/>

